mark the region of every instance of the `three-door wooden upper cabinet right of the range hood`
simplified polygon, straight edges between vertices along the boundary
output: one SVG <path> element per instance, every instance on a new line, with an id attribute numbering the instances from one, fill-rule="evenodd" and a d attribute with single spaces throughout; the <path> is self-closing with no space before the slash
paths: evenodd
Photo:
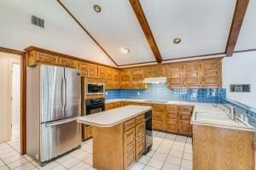
<path id="1" fill-rule="evenodd" d="M 167 65 L 168 88 L 221 88 L 221 59 Z"/>

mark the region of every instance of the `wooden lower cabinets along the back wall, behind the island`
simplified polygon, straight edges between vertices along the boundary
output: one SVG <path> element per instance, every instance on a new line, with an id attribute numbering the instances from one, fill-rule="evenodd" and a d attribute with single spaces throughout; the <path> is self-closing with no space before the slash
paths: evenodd
<path id="1" fill-rule="evenodd" d="M 153 118 L 152 127 L 167 133 L 177 133 L 192 136 L 191 116 L 194 110 L 193 105 L 160 105 L 137 102 L 114 102 L 106 104 L 106 111 L 125 105 L 148 105 L 152 106 Z"/>

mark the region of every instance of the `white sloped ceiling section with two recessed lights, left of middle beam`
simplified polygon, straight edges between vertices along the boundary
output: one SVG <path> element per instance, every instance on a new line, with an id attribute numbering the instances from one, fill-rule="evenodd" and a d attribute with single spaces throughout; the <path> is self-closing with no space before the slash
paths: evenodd
<path id="1" fill-rule="evenodd" d="M 129 1 L 62 0 L 61 2 L 90 32 L 96 42 L 108 51 L 118 65 L 155 61 Z M 101 13 L 94 11 L 95 4 L 101 6 Z M 124 54 L 125 48 L 128 48 L 130 53 Z"/>

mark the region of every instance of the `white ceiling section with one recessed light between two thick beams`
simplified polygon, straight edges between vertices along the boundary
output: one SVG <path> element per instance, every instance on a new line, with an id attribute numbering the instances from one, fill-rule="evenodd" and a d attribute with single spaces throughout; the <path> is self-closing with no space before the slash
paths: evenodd
<path id="1" fill-rule="evenodd" d="M 163 60 L 224 54 L 236 1 L 140 0 Z M 179 37 L 182 42 L 175 44 Z"/>

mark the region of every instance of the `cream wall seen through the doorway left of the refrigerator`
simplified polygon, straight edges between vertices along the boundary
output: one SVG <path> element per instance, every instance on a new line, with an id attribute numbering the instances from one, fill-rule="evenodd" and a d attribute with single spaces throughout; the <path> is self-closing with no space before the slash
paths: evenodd
<path id="1" fill-rule="evenodd" d="M 11 137 L 9 66 L 12 61 L 20 62 L 20 56 L 0 52 L 0 143 Z"/>

